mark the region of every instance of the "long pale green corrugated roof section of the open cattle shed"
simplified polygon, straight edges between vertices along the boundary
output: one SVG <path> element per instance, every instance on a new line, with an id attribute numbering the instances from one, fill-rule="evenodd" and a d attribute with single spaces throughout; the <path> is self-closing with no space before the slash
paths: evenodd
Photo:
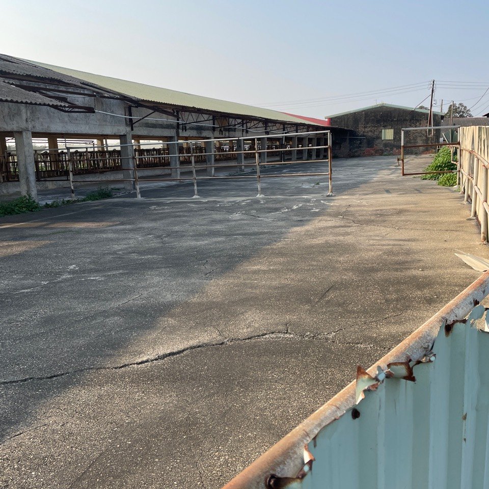
<path id="1" fill-rule="evenodd" d="M 203 97 L 201 95 L 193 95 L 191 93 L 177 92 L 176 90 L 169 90 L 167 88 L 154 87 L 152 85 L 145 85 L 137 82 L 129 82 L 128 80 L 112 78 L 111 76 L 86 73 L 85 71 L 72 70 L 70 68 L 48 65 L 46 63 L 39 63 L 37 61 L 29 61 L 29 63 L 42 66 L 43 68 L 48 68 L 56 71 L 57 73 L 63 73 L 65 75 L 82 79 L 85 82 L 99 85 L 100 87 L 128 95 L 129 97 L 135 97 L 150 102 L 199 108 L 201 110 L 221 112 L 224 114 L 251 116 L 261 119 L 271 119 L 274 121 L 291 122 L 294 124 L 306 123 L 304 119 L 289 116 L 282 112 L 272 111 L 268 108 L 260 108 L 243 103 L 228 102 L 226 100 Z"/>

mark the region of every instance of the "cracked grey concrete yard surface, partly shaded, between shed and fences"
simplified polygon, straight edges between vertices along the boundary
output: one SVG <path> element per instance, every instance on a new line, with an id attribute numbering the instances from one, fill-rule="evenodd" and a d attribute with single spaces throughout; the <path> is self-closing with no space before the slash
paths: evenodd
<path id="1" fill-rule="evenodd" d="M 395 157 L 333 180 L 3 218 L 0 486 L 219 488 L 479 276 L 453 189 Z"/>

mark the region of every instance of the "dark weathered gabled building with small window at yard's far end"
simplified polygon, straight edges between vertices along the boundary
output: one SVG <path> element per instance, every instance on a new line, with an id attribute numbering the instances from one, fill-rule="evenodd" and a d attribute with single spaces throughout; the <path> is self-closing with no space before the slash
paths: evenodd
<path id="1" fill-rule="evenodd" d="M 331 126 L 353 129 L 365 138 L 363 148 L 379 148 L 395 153 L 401 145 L 401 129 L 405 127 L 427 127 L 429 111 L 423 108 L 404 107 L 390 103 L 378 103 L 356 110 L 325 117 Z M 433 112 L 433 126 L 441 125 L 443 114 Z M 439 131 L 410 131 L 406 144 L 439 142 Z M 422 151 L 422 148 L 421 148 Z"/>

